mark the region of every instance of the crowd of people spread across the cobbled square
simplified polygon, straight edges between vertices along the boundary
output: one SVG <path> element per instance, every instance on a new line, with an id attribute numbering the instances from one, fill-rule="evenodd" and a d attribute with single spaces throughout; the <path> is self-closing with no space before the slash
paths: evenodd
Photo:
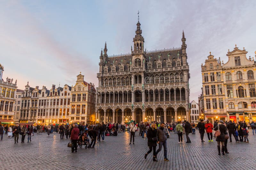
<path id="1" fill-rule="evenodd" d="M 213 138 L 217 141 L 218 154 L 229 153 L 227 149 L 228 139 L 229 142 L 232 142 L 232 136 L 235 138 L 237 143 L 246 142 L 249 143 L 248 129 L 252 129 L 252 133 L 256 134 L 256 125 L 254 121 L 252 123 L 246 124 L 244 121 L 235 123 L 231 120 L 229 122 L 216 120 L 212 124 L 209 120 L 204 121 L 200 120 L 198 124 L 189 123 L 188 121 L 177 121 L 172 124 L 165 124 L 154 122 L 140 122 L 134 123 L 129 122 L 129 124 L 59 124 L 59 125 L 32 125 L 27 124 L 20 126 L 19 124 L 15 125 L 5 125 L 0 124 L 0 137 L 3 140 L 3 134 L 8 134 L 8 138 L 13 137 L 14 143 L 19 142 L 19 136 L 21 135 L 21 143 L 24 143 L 25 137 L 27 135 L 28 142 L 31 142 L 31 136 L 34 136 L 34 133 L 40 135 L 42 133 L 47 133 L 49 137 L 51 133 L 59 133 L 60 139 L 70 139 L 72 143 L 72 152 L 77 152 L 77 142 L 79 144 L 83 143 L 84 145 L 89 145 L 89 148 L 94 148 L 96 141 L 100 142 L 100 139 L 104 141 L 105 136 L 117 136 L 118 133 L 129 132 L 130 133 L 130 143 L 135 145 L 134 136 L 135 132 L 139 132 L 139 136 L 142 138 L 148 139 L 148 152 L 144 155 L 144 158 L 147 159 L 147 156 L 153 150 L 153 161 L 157 161 L 157 154 L 164 147 L 164 160 L 169 161 L 167 158 L 167 137 L 169 132 L 174 132 L 178 134 L 178 143 L 183 143 L 183 134 L 186 136 L 186 143 L 191 143 L 189 138 L 189 133 L 196 134 L 196 130 L 199 131 L 201 142 L 204 142 L 204 133 L 207 133 L 208 142 L 213 142 Z M 215 133 L 213 134 L 213 131 Z M 91 138 L 91 143 L 89 138 Z M 239 139 L 238 139 L 239 137 Z M 158 144 L 158 149 L 156 146 Z"/>

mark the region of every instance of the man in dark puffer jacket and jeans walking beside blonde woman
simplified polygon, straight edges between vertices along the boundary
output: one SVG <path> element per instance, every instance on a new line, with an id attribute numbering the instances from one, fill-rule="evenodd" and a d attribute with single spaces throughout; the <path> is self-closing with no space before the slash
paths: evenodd
<path id="1" fill-rule="evenodd" d="M 162 146 L 164 146 L 164 160 L 169 161 L 167 158 L 167 137 L 166 137 L 166 131 L 165 131 L 165 126 L 164 122 L 161 123 L 160 127 L 157 128 L 156 130 L 156 141 L 159 144 L 159 148 L 156 151 L 156 155 L 158 152 L 162 150 Z"/>

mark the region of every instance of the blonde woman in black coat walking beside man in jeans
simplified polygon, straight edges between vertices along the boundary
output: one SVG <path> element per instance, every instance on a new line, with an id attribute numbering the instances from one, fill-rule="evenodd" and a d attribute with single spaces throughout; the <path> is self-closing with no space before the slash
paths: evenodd
<path id="1" fill-rule="evenodd" d="M 145 154 L 144 158 L 147 159 L 148 153 L 152 152 L 153 148 L 153 161 L 156 160 L 156 124 L 152 123 L 150 128 L 148 128 L 148 147 L 149 151 Z"/>

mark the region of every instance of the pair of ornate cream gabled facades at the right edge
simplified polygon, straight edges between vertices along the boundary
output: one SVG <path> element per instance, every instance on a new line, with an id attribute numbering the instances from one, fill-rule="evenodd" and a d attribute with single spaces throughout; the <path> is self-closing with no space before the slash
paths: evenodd
<path id="1" fill-rule="evenodd" d="M 245 49 L 235 46 L 228 50 L 227 63 L 210 52 L 202 64 L 203 88 L 198 103 L 205 119 L 256 121 L 256 62 L 246 54 Z"/>

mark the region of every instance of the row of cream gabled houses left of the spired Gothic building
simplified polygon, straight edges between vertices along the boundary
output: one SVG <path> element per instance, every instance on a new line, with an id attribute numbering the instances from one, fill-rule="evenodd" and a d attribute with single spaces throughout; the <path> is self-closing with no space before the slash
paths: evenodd
<path id="1" fill-rule="evenodd" d="M 96 90 L 81 73 L 75 86 L 42 89 L 28 85 L 17 90 L 14 121 L 20 124 L 67 124 L 95 122 Z"/>

